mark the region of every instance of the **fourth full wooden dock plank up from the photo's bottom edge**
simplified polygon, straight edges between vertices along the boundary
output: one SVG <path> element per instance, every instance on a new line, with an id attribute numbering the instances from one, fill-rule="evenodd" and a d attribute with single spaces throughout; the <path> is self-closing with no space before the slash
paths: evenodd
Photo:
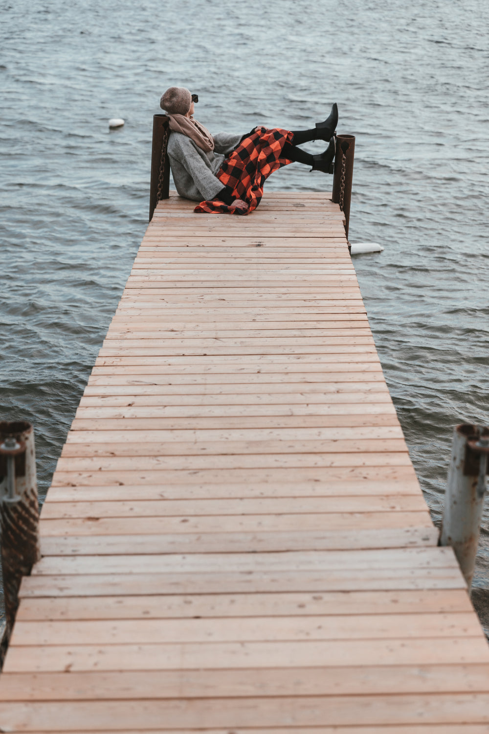
<path id="1" fill-rule="evenodd" d="M 15 623 L 10 648 L 59 645 L 282 642 L 300 640 L 449 639 L 477 637 L 472 611 L 452 614 L 358 614 L 231 619 L 109 619 Z M 489 655 L 488 655 L 489 664 Z"/>

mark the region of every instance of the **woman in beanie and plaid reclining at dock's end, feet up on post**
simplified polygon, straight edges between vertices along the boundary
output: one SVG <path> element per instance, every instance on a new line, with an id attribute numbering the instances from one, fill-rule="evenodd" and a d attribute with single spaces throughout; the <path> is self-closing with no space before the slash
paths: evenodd
<path id="1" fill-rule="evenodd" d="M 333 172 L 336 103 L 329 117 L 310 130 L 257 127 L 245 135 L 213 136 L 194 120 L 198 101 L 184 87 L 170 87 L 160 101 L 172 131 L 168 155 L 174 183 L 180 196 L 200 202 L 194 211 L 249 214 L 260 203 L 265 179 L 293 161 L 312 171 Z M 315 156 L 298 148 L 311 140 L 329 142 L 328 148 Z"/>

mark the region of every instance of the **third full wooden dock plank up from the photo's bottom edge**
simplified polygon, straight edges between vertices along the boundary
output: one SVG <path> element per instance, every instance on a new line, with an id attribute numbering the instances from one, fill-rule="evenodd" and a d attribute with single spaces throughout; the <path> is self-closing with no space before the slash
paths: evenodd
<path id="1" fill-rule="evenodd" d="M 12 647 L 5 672 L 489 663 L 480 637 Z M 283 699 L 282 699 L 283 700 Z M 489 694 L 486 694 L 489 704 Z M 489 719 L 489 708 L 487 709 Z M 180 719 L 181 722 L 181 719 Z"/>

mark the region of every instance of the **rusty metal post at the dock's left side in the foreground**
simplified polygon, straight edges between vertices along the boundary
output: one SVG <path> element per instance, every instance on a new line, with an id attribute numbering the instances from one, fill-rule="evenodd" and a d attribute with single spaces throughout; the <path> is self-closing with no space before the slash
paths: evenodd
<path id="1" fill-rule="evenodd" d="M 0 528 L 5 622 L 3 664 L 18 608 L 22 576 L 40 559 L 34 429 L 27 421 L 0 422 Z"/>

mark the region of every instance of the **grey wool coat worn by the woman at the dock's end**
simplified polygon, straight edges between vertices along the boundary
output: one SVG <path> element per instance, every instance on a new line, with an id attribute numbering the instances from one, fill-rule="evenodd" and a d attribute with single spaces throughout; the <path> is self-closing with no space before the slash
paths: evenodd
<path id="1" fill-rule="evenodd" d="M 224 188 L 216 173 L 227 154 L 240 142 L 240 135 L 213 135 L 214 150 L 204 153 L 193 140 L 172 131 L 168 139 L 168 156 L 177 192 L 185 199 L 206 201 Z"/>

